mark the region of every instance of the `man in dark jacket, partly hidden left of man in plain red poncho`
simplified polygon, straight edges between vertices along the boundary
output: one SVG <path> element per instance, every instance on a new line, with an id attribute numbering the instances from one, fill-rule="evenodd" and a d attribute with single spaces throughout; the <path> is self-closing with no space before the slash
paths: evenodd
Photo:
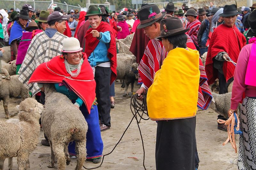
<path id="1" fill-rule="evenodd" d="M 199 49 L 200 55 L 203 55 L 205 52 L 208 51 L 206 42 L 208 40 L 208 35 L 209 35 L 209 33 L 211 31 L 211 27 L 212 27 L 212 17 L 219 9 L 220 8 L 213 8 L 212 12 L 209 14 L 210 16 L 205 18 L 199 27 L 199 30 L 197 32 L 197 41 L 198 41 L 199 48 L 200 48 Z"/>

